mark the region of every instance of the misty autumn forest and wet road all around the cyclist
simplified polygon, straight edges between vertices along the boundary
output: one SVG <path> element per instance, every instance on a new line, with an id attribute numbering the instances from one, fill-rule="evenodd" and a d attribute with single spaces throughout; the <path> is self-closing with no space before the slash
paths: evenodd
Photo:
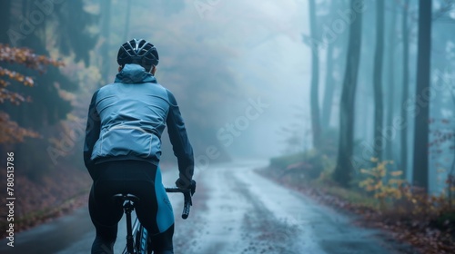
<path id="1" fill-rule="evenodd" d="M 136 38 L 194 149 L 176 253 L 455 253 L 455 1 L 16 0 L 0 18 L 0 252 L 89 252 L 88 106 Z"/>

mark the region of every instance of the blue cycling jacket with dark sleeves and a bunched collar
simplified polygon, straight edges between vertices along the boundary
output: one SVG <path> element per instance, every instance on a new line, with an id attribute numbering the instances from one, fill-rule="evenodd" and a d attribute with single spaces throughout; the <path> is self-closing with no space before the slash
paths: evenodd
<path id="1" fill-rule="evenodd" d="M 180 178 L 190 180 L 193 149 L 176 98 L 138 64 L 126 64 L 115 83 L 98 89 L 88 110 L 84 161 L 88 171 L 96 163 L 116 160 L 149 161 L 161 155 L 161 134 L 167 125 L 177 156 Z"/>

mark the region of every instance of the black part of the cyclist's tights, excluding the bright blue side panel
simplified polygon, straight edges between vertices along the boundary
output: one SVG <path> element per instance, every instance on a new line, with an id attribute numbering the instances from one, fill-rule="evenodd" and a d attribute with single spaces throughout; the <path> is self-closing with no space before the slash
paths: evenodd
<path id="1" fill-rule="evenodd" d="M 157 232 L 157 195 L 155 176 L 157 166 L 147 161 L 108 161 L 97 165 L 92 172 L 94 184 L 88 199 L 88 210 L 96 228 L 92 253 L 113 253 L 117 223 L 123 216 L 122 204 L 111 197 L 116 193 L 130 193 L 139 198 L 135 204 L 137 218 L 149 232 Z M 166 231 L 151 236 L 154 253 L 172 254 L 174 224 Z"/>

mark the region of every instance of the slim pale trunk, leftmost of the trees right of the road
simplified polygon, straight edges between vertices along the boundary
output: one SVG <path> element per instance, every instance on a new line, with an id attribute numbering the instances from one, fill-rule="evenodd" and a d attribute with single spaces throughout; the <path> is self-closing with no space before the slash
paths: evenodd
<path id="1" fill-rule="evenodd" d="M 315 0 L 309 0 L 310 35 L 318 38 L 316 25 Z M 318 44 L 311 44 L 311 129 L 313 132 L 313 146 L 319 148 L 320 122 L 319 122 L 319 49 Z"/>

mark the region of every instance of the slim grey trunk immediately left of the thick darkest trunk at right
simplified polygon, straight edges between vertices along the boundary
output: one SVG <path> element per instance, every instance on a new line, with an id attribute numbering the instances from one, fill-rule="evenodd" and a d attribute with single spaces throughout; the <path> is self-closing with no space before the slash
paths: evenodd
<path id="1" fill-rule="evenodd" d="M 403 14 L 401 20 L 401 33 L 403 36 L 403 91 L 401 92 L 401 105 L 405 105 L 408 101 L 410 89 L 410 32 L 408 30 L 408 14 L 410 8 L 410 0 L 406 0 L 403 7 Z M 401 109 L 401 120 L 408 122 L 408 111 Z M 408 172 L 408 132 L 409 124 L 401 128 L 400 133 L 400 159 L 401 170 L 403 175 L 406 176 Z"/>

